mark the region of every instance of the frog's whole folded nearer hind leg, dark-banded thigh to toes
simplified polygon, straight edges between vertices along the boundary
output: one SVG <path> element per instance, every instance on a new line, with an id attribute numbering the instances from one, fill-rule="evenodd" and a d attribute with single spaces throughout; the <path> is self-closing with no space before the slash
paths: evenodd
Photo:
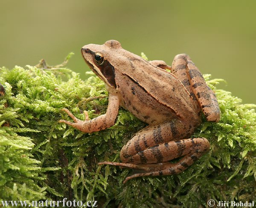
<path id="1" fill-rule="evenodd" d="M 122 162 L 100 162 L 99 165 L 109 164 L 140 170 L 140 173 L 127 177 L 124 183 L 141 176 L 179 174 L 209 150 L 207 139 L 183 139 L 188 135 L 191 135 L 189 125 L 180 121 L 148 126 L 135 134 L 122 148 Z M 182 156 L 177 163 L 167 162 Z"/>

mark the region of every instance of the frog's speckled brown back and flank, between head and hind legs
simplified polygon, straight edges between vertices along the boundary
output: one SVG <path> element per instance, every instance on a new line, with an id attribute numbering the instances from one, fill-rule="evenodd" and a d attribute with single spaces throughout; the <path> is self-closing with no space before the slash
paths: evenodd
<path id="1" fill-rule="evenodd" d="M 149 124 L 174 118 L 198 120 L 198 101 L 192 99 L 175 75 L 139 56 L 128 62 L 129 70 L 116 74 L 121 76 L 117 80 L 121 82 L 119 91 L 124 108 Z"/>

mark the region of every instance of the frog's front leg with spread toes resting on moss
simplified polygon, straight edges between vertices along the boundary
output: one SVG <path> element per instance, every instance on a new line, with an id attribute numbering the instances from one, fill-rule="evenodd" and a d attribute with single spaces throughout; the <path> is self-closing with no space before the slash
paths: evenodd
<path id="1" fill-rule="evenodd" d="M 66 108 L 63 109 L 67 114 L 74 120 L 75 123 L 59 120 L 59 123 L 66 123 L 67 125 L 71 125 L 74 128 L 79 129 L 80 131 L 91 133 L 93 131 L 101 131 L 105 128 L 109 128 L 114 125 L 118 110 L 119 110 L 119 97 L 115 94 L 109 94 L 108 96 L 108 109 L 106 114 L 103 114 L 99 117 L 94 118 L 93 120 L 89 120 L 88 114 L 84 111 L 85 120 L 79 120 L 76 118 L 70 111 Z"/>

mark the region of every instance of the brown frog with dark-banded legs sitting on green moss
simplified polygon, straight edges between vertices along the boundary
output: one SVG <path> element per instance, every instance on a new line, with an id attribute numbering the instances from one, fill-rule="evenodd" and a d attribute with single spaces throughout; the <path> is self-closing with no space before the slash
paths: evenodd
<path id="1" fill-rule="evenodd" d="M 148 125 L 136 132 L 120 151 L 121 162 L 99 162 L 134 170 L 136 177 L 180 174 L 209 151 L 204 137 L 191 138 L 202 122 L 220 120 L 212 89 L 187 54 L 175 56 L 172 66 L 162 60 L 147 61 L 122 48 L 116 40 L 81 48 L 89 68 L 105 83 L 108 108 L 92 120 L 65 111 L 74 122 L 59 120 L 80 131 L 102 131 L 115 124 L 119 107 Z M 173 163 L 172 160 L 178 161 Z M 179 160 L 180 159 L 180 160 Z"/>

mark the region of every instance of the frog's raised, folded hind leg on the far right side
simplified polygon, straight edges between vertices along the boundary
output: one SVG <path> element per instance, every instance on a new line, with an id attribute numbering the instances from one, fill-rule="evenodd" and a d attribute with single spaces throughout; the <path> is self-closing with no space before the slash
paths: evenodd
<path id="1" fill-rule="evenodd" d="M 198 103 L 208 121 L 220 120 L 217 98 L 206 84 L 203 75 L 187 54 L 178 54 L 172 62 L 172 74 L 178 77 Z"/>

